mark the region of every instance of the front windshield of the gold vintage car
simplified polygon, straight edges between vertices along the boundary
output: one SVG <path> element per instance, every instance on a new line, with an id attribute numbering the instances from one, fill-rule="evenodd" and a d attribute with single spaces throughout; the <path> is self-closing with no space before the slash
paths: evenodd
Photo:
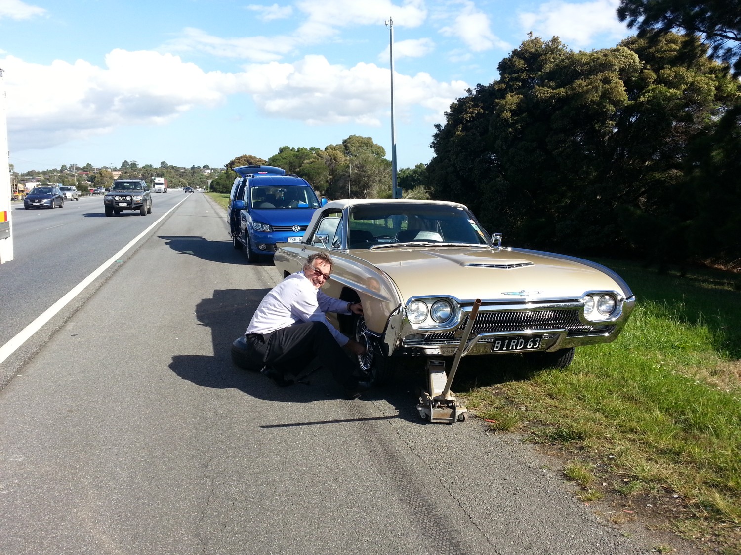
<path id="1" fill-rule="evenodd" d="M 348 248 L 370 249 L 405 243 L 488 245 L 488 235 L 471 212 L 424 203 L 362 204 L 350 209 Z"/>

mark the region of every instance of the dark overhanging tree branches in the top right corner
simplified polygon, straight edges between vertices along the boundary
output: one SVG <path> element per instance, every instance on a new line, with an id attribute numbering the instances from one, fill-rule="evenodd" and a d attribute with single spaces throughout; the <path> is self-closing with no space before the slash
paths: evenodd
<path id="1" fill-rule="evenodd" d="M 621 0 L 617 16 L 642 36 L 671 31 L 700 36 L 711 55 L 741 73 L 740 0 Z"/>

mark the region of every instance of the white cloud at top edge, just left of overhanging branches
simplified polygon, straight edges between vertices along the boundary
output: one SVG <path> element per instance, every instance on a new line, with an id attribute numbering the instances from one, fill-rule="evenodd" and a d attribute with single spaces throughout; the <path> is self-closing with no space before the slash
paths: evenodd
<path id="1" fill-rule="evenodd" d="M 570 47 L 588 46 L 597 35 L 619 39 L 628 35 L 627 27 L 617 19 L 619 0 L 594 0 L 581 4 L 554 0 L 542 4 L 537 13 L 520 13 L 525 32 L 549 39 L 558 36 Z"/>

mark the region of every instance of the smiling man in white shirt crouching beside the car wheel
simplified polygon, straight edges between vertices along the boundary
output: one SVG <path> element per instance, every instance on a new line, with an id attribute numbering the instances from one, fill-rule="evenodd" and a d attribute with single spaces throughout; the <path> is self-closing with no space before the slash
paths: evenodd
<path id="1" fill-rule="evenodd" d="M 325 312 L 362 314 L 363 309 L 361 303 L 348 303 L 322 292 L 332 266 L 330 255 L 315 252 L 301 272 L 270 289 L 247 326 L 247 356 L 279 386 L 293 383 L 285 379 L 289 371 L 295 374 L 296 369 L 319 357 L 322 366 L 354 399 L 368 386 L 353 376 L 355 365 L 343 347 L 358 355 L 365 354 L 365 347 L 335 329 Z"/>

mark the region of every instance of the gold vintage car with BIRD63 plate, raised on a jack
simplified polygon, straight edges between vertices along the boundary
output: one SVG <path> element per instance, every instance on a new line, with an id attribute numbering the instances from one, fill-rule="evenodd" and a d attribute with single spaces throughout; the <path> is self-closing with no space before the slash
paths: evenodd
<path id="1" fill-rule="evenodd" d="M 464 354 L 524 353 L 536 364 L 564 367 L 575 347 L 619 335 L 635 302 L 619 275 L 588 260 L 501 243 L 501 234 L 488 235 L 459 203 L 333 201 L 314 212 L 301 243 L 278 243 L 274 260 L 285 277 L 312 252 L 330 252 L 325 292 L 359 300 L 365 312 L 330 318 L 368 346 L 359 363 L 376 382 L 397 357 L 453 355 L 477 299 Z"/>

